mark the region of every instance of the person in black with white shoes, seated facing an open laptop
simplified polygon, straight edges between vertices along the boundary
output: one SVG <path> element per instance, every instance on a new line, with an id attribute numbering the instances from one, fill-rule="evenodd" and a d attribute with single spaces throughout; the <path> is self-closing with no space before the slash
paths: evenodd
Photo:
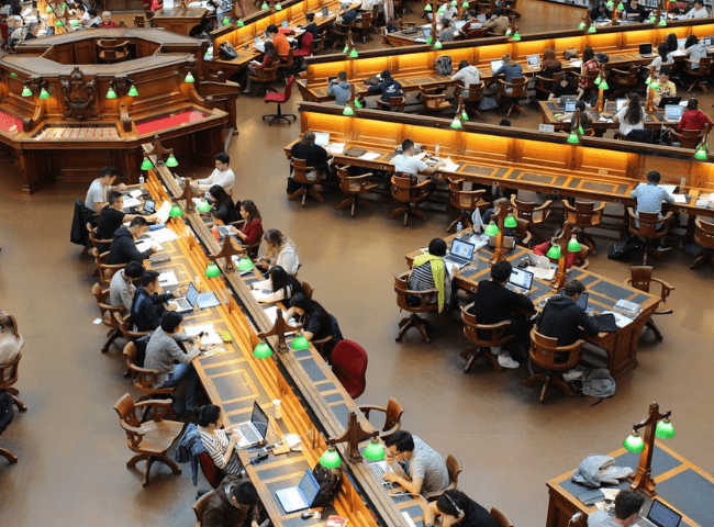
<path id="1" fill-rule="evenodd" d="M 507 260 L 500 260 L 491 267 L 491 280 L 481 280 L 473 295 L 473 305 L 469 313 L 476 316 L 478 324 L 498 324 L 510 321 L 506 335 L 515 338 L 504 345 L 505 350 L 499 355 L 501 368 L 517 368 L 520 365 L 512 356 L 528 358 L 528 347 L 532 324 L 528 315 L 533 313 L 533 302 L 524 294 L 511 291 L 505 287 L 513 267 Z M 481 338 L 490 338 L 483 335 Z M 492 352 L 494 350 L 491 350 Z"/>

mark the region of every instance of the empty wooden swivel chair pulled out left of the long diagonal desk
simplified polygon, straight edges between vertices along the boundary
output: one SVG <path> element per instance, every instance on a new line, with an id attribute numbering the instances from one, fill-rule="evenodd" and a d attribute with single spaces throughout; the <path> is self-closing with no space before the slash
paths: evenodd
<path id="1" fill-rule="evenodd" d="M 171 401 L 143 401 L 134 404 L 129 393 L 124 394 L 114 405 L 114 410 L 119 414 L 119 424 L 126 433 L 126 445 L 132 452 L 136 453 L 126 462 L 126 468 L 132 469 L 136 467 L 137 462 L 146 461 L 144 486 L 148 485 L 148 473 L 155 461 L 166 464 L 175 474 L 181 473 L 181 468 L 166 456 L 166 452 L 181 437 L 188 423 L 164 421 L 170 406 Z M 150 408 L 154 418 L 147 423 L 141 423 L 136 411 L 142 408 Z"/>

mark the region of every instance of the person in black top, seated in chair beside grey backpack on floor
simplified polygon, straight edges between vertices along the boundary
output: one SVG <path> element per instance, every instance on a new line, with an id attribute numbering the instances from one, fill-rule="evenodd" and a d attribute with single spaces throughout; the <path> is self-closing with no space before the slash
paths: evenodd
<path id="1" fill-rule="evenodd" d="M 536 318 L 538 333 L 558 339 L 558 346 L 570 346 L 580 338 L 580 329 L 598 335 L 598 323 L 577 302 L 585 287 L 580 280 L 568 282 L 565 295 L 554 295 Z"/>

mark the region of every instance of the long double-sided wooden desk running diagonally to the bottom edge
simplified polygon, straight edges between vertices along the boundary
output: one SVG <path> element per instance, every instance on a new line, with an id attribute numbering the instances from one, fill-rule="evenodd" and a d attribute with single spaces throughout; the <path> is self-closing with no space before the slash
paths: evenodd
<path id="1" fill-rule="evenodd" d="M 165 167 L 149 171 L 147 187 L 156 198 L 166 199 L 161 184 L 174 195 L 179 187 Z M 186 213 L 181 220 L 170 220 L 170 228 L 180 238 L 169 245 L 171 261 L 159 267 L 171 267 L 179 281 L 202 276 L 208 258 L 204 250 L 217 253 L 220 246 L 197 212 Z M 274 525 L 315 525 L 321 522 L 304 522 L 300 512 L 285 514 L 275 497 L 275 491 L 295 484 L 306 468 L 312 468 L 326 448 L 325 437 L 338 437 L 345 429 L 349 412 L 356 412 L 366 429 L 370 424 L 359 412 L 356 403 L 345 392 L 314 348 L 303 351 L 276 354 L 269 359 L 255 359 L 253 349 L 257 345 L 256 334 L 269 329 L 271 323 L 264 306 L 255 301 L 245 280 L 235 272 L 225 270 L 225 262 L 217 261 L 222 278 L 201 279 L 202 290 L 214 291 L 222 305 L 201 311 L 187 318 L 185 325 L 209 324 L 227 329 L 233 336 L 231 345 L 224 345 L 226 352 L 196 359 L 194 366 L 203 385 L 215 404 L 224 410 L 225 424 L 246 421 L 254 400 L 271 413 L 271 401 L 281 400 L 282 418 L 271 418 L 272 436 L 278 439 L 287 433 L 300 435 L 302 452 L 274 456 L 257 466 L 247 466 L 248 474 L 256 484 Z M 248 279 L 250 280 L 250 278 Z M 227 296 L 227 302 L 226 302 Z M 277 340 L 269 337 L 268 344 L 276 348 Z M 290 340 L 290 339 L 289 339 Z M 410 513 L 422 526 L 423 501 L 411 497 L 393 498 L 387 494 L 366 463 L 345 461 L 345 448 L 337 445 L 343 458 L 343 486 L 335 502 L 337 514 L 346 516 L 359 527 L 377 525 L 408 527 L 402 511 Z M 247 463 L 255 452 L 239 452 Z"/>

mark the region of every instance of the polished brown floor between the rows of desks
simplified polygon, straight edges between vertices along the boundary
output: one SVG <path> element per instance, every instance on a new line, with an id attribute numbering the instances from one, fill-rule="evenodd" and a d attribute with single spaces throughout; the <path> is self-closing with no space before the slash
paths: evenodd
<path id="1" fill-rule="evenodd" d="M 704 98 L 706 108 L 711 99 Z M 315 299 L 339 319 L 345 337 L 367 349 L 367 391 L 359 401 L 399 399 L 406 408 L 405 429 L 443 456 L 454 452 L 461 459 L 461 490 L 487 507 L 506 511 L 517 527 L 543 526 L 546 480 L 590 453 L 617 449 L 652 401 L 672 411 L 677 437 L 667 445 L 714 471 L 707 410 L 714 396 L 714 269 L 690 270 L 679 238 L 666 261 L 655 265 L 656 276 L 677 288 L 674 313 L 657 321 L 665 340 L 643 335 L 639 366 L 617 380 L 613 399 L 591 406 L 590 399 L 553 392 L 540 405 L 537 389 L 521 385 L 527 375 L 523 366 L 495 373 L 477 363 L 464 373 L 458 352 L 467 343 L 456 314 L 431 317 L 436 327 L 431 345 L 416 333 L 394 341 L 403 315 L 392 276 L 405 269 L 408 251 L 445 234 L 450 212 L 427 211 L 425 222 L 403 228 L 389 220 L 389 200 L 376 198 L 373 212 L 360 210 L 350 217 L 335 210 L 336 191 L 326 194 L 325 203 L 309 202 L 303 209 L 286 198 L 282 154 L 298 136 L 299 123 L 268 127 L 260 115 L 272 109 L 260 98 L 242 98 L 238 108 L 241 135 L 230 148 L 237 198 L 253 199 L 266 228 L 280 228 L 295 242 L 303 262 L 300 278 L 315 285 Z M 535 126 L 537 121 L 533 108 L 515 124 Z M 209 171 L 178 169 L 183 176 Z M 87 186 L 55 184 L 25 197 L 18 168 L 0 160 L 0 307 L 16 316 L 25 338 L 18 388 L 30 408 L 0 436 L 0 445 L 20 457 L 14 466 L 0 460 L 0 526 L 192 525 L 196 489 L 188 466 L 179 476 L 158 466 L 147 489 L 138 471 L 125 468 L 131 453 L 112 406 L 133 391 L 122 377 L 120 348 L 99 351 L 104 330 L 92 324 L 98 314 L 90 293 L 93 266 L 69 243 L 72 203 L 83 199 Z M 621 280 L 628 264 L 605 256 L 614 240 L 612 232 L 598 236 L 590 268 Z M 208 484 L 201 479 L 199 487 Z"/>

